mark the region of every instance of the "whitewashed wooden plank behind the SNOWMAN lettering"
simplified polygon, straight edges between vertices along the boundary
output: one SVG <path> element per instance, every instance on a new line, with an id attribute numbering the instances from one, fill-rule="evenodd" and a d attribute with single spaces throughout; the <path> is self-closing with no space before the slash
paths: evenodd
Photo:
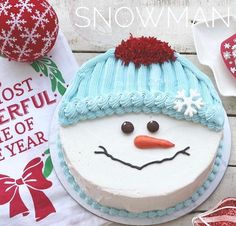
<path id="1" fill-rule="evenodd" d="M 192 21 L 205 21 L 236 11 L 233 0 L 51 0 L 51 3 L 59 16 L 61 29 L 71 48 L 76 51 L 103 51 L 114 47 L 132 33 L 154 35 L 170 42 L 179 52 L 192 53 L 195 52 Z M 76 14 L 79 7 L 87 7 L 89 10 L 80 9 Z M 129 10 L 122 10 L 122 7 L 128 7 Z M 94 13 L 94 8 L 107 23 L 110 19 L 111 28 Z M 148 12 L 152 9 L 150 18 L 153 22 L 149 20 L 146 23 Z M 77 27 L 76 24 L 86 26 L 86 21 L 77 15 L 86 16 L 90 26 Z M 127 28 L 121 27 L 129 23 L 131 25 Z"/>

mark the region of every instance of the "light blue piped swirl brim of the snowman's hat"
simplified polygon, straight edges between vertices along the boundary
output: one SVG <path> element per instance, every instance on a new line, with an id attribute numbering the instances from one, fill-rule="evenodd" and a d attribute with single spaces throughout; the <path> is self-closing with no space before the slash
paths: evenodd
<path id="1" fill-rule="evenodd" d="M 103 97 L 75 99 L 72 103 L 62 102 L 59 111 L 61 125 L 68 126 L 79 121 L 96 119 L 113 114 L 122 115 L 129 112 L 163 113 L 178 120 L 185 119 L 200 122 L 209 129 L 220 131 L 224 124 L 221 105 L 203 107 L 193 117 L 185 116 L 183 111 L 173 109 L 175 98 L 171 93 L 133 92 L 106 95 Z"/>

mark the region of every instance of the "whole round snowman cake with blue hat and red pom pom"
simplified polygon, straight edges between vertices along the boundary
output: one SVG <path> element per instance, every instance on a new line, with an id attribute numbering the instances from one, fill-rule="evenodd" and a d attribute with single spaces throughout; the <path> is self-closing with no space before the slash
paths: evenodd
<path id="1" fill-rule="evenodd" d="M 208 77 L 168 43 L 131 36 L 81 67 L 59 121 L 66 165 L 88 203 L 155 216 L 197 199 L 224 109 Z"/>

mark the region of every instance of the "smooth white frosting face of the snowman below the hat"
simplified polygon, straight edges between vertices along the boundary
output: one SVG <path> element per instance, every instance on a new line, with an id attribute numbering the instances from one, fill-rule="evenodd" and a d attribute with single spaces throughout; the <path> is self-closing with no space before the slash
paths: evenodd
<path id="1" fill-rule="evenodd" d="M 151 120 L 160 125 L 155 133 L 147 130 Z M 125 121 L 132 122 L 133 133 L 122 132 Z M 175 146 L 140 149 L 134 145 L 139 135 L 165 139 Z M 210 172 L 221 136 L 221 132 L 200 124 L 144 113 L 115 115 L 60 128 L 68 167 L 80 186 L 99 203 L 129 211 L 164 209 L 189 198 Z M 99 146 L 114 158 L 135 166 L 171 158 L 188 146 L 190 155 L 178 154 L 173 160 L 137 170 L 104 154 L 95 154 L 103 151 Z"/>

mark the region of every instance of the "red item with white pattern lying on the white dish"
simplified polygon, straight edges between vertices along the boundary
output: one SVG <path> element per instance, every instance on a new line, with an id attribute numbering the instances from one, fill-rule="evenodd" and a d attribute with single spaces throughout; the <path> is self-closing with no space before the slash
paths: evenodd
<path id="1" fill-rule="evenodd" d="M 222 42 L 221 55 L 225 65 L 236 78 L 236 34 Z"/>

